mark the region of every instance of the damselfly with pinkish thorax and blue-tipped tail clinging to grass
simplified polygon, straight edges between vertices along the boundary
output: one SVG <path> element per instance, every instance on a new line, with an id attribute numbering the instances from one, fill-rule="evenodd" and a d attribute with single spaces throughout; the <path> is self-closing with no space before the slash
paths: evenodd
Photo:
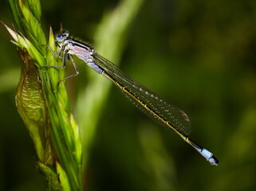
<path id="1" fill-rule="evenodd" d="M 144 85 L 136 82 L 130 76 L 127 76 L 119 68 L 116 67 L 111 61 L 101 57 L 96 53 L 90 45 L 85 44 L 84 42 L 77 41 L 73 37 L 69 37 L 69 32 L 62 31 L 56 35 L 56 41 L 60 49 L 58 53 L 55 53 L 53 49 L 49 46 L 48 48 L 53 52 L 57 57 L 63 59 L 62 66 L 47 65 L 46 67 L 53 68 L 65 68 L 66 58 L 69 57 L 73 62 L 76 73 L 71 76 L 65 77 L 63 80 L 67 80 L 73 76 L 78 75 L 77 64 L 73 60 L 73 55 L 77 56 L 81 60 L 85 61 L 90 68 L 93 68 L 96 72 L 107 77 L 108 80 L 111 80 L 124 94 L 136 104 L 144 114 L 148 115 L 156 122 L 160 123 L 164 127 L 170 128 L 175 131 L 176 134 L 179 134 L 181 138 L 188 144 L 190 144 L 195 150 L 203 155 L 208 162 L 213 166 L 218 166 L 219 161 L 215 156 L 208 150 L 204 149 L 202 146 L 199 146 L 188 138 L 190 133 L 190 121 L 188 116 L 181 111 L 178 107 L 167 103 L 160 96 L 157 96 L 156 93 L 152 92 L 148 88 L 145 88 Z M 61 80 L 61 81 L 63 81 Z M 60 82 L 61 82 L 60 81 Z"/>

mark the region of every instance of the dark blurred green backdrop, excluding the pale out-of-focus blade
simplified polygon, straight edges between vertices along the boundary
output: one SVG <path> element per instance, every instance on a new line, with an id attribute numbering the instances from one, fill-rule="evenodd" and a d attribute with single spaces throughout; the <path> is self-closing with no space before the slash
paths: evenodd
<path id="1" fill-rule="evenodd" d="M 41 21 L 46 34 L 49 25 L 58 31 L 62 22 L 93 44 L 99 25 L 120 2 L 43 1 Z M 0 2 L 0 19 L 14 23 L 5 1 Z M 113 29 L 120 27 L 115 24 Z M 113 86 L 96 114 L 95 134 L 85 152 L 85 190 L 255 190 L 255 24 L 254 0 L 143 1 L 118 42 L 120 68 L 185 111 L 191 138 L 211 150 L 220 165 L 209 165 Z M 0 190 L 45 190 L 30 134 L 15 107 L 20 62 L 3 26 L 0 42 Z M 67 88 L 79 122 L 77 95 L 92 83 L 88 75 L 99 75 L 78 63 L 81 75 L 69 80 Z M 86 105 L 81 107 L 86 111 Z"/>

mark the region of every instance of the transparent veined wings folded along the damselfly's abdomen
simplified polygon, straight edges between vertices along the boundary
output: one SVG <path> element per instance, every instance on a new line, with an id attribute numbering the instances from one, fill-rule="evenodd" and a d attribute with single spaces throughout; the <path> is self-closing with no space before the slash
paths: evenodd
<path id="1" fill-rule="evenodd" d="M 136 105 L 136 107 L 144 112 L 144 114 L 148 115 L 164 127 L 170 128 L 163 121 L 168 122 L 171 127 L 174 127 L 184 135 L 188 135 L 191 132 L 188 116 L 182 110 L 167 103 L 167 101 L 156 95 L 156 93 L 136 82 L 136 80 L 133 80 L 117 68 L 115 64 L 104 57 L 101 57 L 99 54 L 94 53 L 93 57 L 95 59 L 95 64 L 100 66 L 100 68 L 103 68 L 104 72 L 107 73 L 107 77 L 111 77 L 110 80 L 112 80 L 119 88 L 122 89 L 124 87 L 129 92 L 125 92 L 124 89 L 122 91 L 125 96 Z"/>

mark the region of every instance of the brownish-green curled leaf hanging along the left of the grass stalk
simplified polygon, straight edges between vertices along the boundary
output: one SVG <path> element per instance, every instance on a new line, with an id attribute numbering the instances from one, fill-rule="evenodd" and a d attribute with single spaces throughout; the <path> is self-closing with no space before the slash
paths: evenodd
<path id="1" fill-rule="evenodd" d="M 41 162 L 53 164 L 54 154 L 49 144 L 49 118 L 42 93 L 41 78 L 26 49 L 18 49 L 22 72 L 16 91 L 18 112 L 33 140 L 37 157 Z M 45 152 L 47 150 L 47 152 Z"/>

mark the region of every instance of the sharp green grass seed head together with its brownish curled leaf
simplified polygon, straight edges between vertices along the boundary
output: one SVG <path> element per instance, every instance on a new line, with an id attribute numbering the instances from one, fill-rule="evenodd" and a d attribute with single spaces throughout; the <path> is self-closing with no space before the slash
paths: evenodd
<path id="1" fill-rule="evenodd" d="M 80 133 L 70 112 L 65 84 L 57 86 L 65 70 L 42 68 L 46 64 L 61 65 L 61 60 L 42 46 L 46 45 L 46 37 L 41 29 L 40 1 L 9 3 L 22 34 L 5 26 L 14 44 L 24 50 L 19 51 L 23 69 L 17 92 L 18 111 L 33 138 L 38 167 L 49 181 L 49 190 L 82 190 Z M 56 49 L 52 29 L 48 45 Z"/>

